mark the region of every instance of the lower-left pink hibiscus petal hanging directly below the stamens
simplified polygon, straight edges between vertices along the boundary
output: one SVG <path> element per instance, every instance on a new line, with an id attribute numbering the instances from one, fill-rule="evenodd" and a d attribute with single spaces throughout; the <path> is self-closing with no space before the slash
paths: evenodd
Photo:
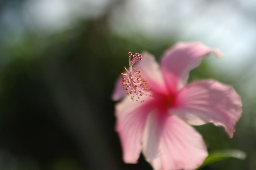
<path id="1" fill-rule="evenodd" d="M 153 99 L 137 102 L 126 97 L 115 106 L 116 132 L 121 140 L 125 163 L 137 163 L 140 157 L 143 129 Z"/>

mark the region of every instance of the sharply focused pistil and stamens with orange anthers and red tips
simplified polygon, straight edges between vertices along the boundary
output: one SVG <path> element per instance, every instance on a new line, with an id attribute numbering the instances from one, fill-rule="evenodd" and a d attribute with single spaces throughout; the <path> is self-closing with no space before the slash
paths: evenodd
<path id="1" fill-rule="evenodd" d="M 129 53 L 130 55 L 130 71 L 128 71 L 126 69 L 126 67 L 124 67 L 124 69 L 127 71 L 126 73 L 121 73 L 121 75 L 123 76 L 123 86 L 124 89 L 127 90 L 126 95 L 129 96 L 131 95 L 131 99 L 132 100 L 136 100 L 138 101 L 139 99 L 141 100 L 141 102 L 143 102 L 144 100 L 142 100 L 142 96 L 146 95 L 146 96 L 151 96 L 150 93 L 148 93 L 148 87 L 146 86 L 147 81 L 145 79 L 142 79 L 140 73 L 141 71 L 138 70 L 136 71 L 136 69 L 133 69 L 132 71 L 132 66 L 135 62 L 142 60 L 142 55 L 139 53 L 136 53 L 136 55 L 133 55 L 133 59 L 131 61 L 131 55 L 132 53 Z M 151 91 L 152 92 L 152 91 Z"/>

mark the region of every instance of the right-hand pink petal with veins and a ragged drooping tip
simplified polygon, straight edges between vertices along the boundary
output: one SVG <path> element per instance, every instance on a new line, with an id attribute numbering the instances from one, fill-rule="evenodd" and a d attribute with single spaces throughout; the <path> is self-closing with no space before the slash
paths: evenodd
<path id="1" fill-rule="evenodd" d="M 178 92 L 176 102 L 177 108 L 172 113 L 187 123 L 224 126 L 230 137 L 233 137 L 234 126 L 242 113 L 242 102 L 237 92 L 231 86 L 215 80 L 187 84 Z"/>

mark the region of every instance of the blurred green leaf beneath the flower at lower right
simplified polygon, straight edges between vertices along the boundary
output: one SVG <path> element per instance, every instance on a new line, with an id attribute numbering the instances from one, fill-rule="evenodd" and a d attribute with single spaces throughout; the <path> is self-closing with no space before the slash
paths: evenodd
<path id="1" fill-rule="evenodd" d="M 238 159 L 246 159 L 247 154 L 244 151 L 237 149 L 226 149 L 221 151 L 215 151 L 209 154 L 209 156 L 205 159 L 204 163 L 195 170 L 199 170 L 202 167 L 210 165 L 214 162 L 221 161 L 226 158 L 238 158 Z"/>

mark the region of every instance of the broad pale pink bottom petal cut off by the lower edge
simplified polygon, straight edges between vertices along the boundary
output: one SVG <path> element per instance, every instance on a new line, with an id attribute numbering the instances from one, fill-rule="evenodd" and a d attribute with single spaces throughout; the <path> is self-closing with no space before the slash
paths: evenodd
<path id="1" fill-rule="evenodd" d="M 149 115 L 142 150 L 155 170 L 195 169 L 208 156 L 202 136 L 167 112 Z"/>

